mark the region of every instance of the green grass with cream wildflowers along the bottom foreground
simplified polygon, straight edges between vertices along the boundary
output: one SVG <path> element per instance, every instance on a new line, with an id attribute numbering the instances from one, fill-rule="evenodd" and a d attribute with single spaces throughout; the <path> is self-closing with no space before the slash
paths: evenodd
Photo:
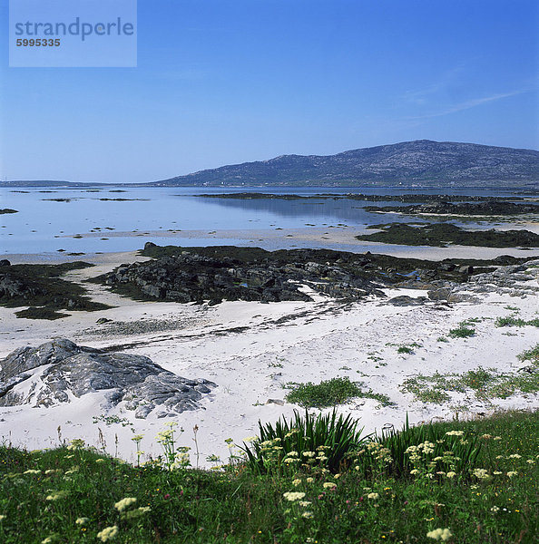
<path id="1" fill-rule="evenodd" d="M 82 441 L 37 452 L 2 447 L 0 541 L 537 542 L 539 413 L 426 427 L 425 436 L 441 438 L 402 452 L 410 471 L 406 463 L 392 469 L 391 444 L 380 439 L 363 442 L 337 473 L 314 461 L 281 463 L 286 457 L 271 444 L 277 461 L 261 471 L 240 461 L 216 471 L 185 462 L 133 467 L 78 447 Z M 170 437 L 161 437 L 169 453 Z M 398 442 L 394 436 L 392 452 Z M 473 465 L 447 461 L 468 443 L 480 444 Z M 436 448 L 449 452 L 433 457 Z M 317 460 L 330 453 L 320 451 Z"/>

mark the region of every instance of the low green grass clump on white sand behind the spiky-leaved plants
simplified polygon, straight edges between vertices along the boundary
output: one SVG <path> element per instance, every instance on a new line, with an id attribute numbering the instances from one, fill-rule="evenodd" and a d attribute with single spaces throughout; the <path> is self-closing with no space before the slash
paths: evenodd
<path id="1" fill-rule="evenodd" d="M 360 384 L 350 382 L 348 377 L 331 378 L 319 384 L 293 384 L 292 387 L 294 389 L 286 396 L 287 401 L 305 408 L 328 408 L 354 398 L 374 399 L 383 406 L 392 404 L 386 394 L 363 391 Z"/>

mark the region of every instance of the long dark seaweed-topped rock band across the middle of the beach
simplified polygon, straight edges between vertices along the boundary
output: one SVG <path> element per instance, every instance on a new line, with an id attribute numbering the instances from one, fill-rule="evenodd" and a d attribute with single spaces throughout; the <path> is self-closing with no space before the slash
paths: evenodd
<path id="1" fill-rule="evenodd" d="M 473 274 L 524 260 L 436 262 L 329 249 L 179 248 L 152 242 L 145 245 L 142 255 L 154 260 L 122 265 L 93 281 L 125 296 L 182 303 L 309 301 L 309 289 L 353 301 L 368 295 L 385 297 L 381 287 L 432 289 L 444 287 L 447 280 L 462 283 Z"/>

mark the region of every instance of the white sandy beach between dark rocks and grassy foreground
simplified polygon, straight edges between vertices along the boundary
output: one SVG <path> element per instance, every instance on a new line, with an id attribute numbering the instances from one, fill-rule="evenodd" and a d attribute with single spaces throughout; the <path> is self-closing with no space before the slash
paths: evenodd
<path id="1" fill-rule="evenodd" d="M 96 256 L 97 267 L 72 271 L 68 278 L 79 281 L 122 262 L 132 262 L 133 258 L 134 254 L 126 253 Z M 536 279 L 530 283 L 537 285 Z M 318 383 L 348 376 L 375 393 L 387 394 L 395 406 L 381 406 L 370 399 L 339 406 L 340 412 L 353 413 L 365 426 L 365 432 L 380 429 L 386 423 L 400 427 L 407 413 L 412 423 L 418 423 L 453 417 L 456 413 L 460 417 L 488 413 L 495 406 L 539 405 L 537 394 L 516 394 L 490 404 L 478 401 L 471 393 L 451 393 L 449 402 L 421 403 L 400 389 L 407 377 L 436 371 L 461 374 L 483 366 L 515 373 L 521 365 L 516 355 L 537 344 L 537 329 L 495 327 L 494 320 L 515 311 L 508 306 L 518 308 L 518 316 L 523 319 L 536 317 L 536 294 L 485 293 L 479 302 L 450 306 L 428 303 L 397 307 L 371 298 L 345 308 L 316 296 L 315 302 L 310 303 L 226 302 L 210 307 L 137 302 L 113 295 L 100 286 L 89 288 L 94 300 L 115 307 L 93 313 L 72 312 L 57 321 L 17 319 L 15 311 L 21 308 L 0 307 L 0 357 L 19 346 L 66 337 L 80 345 L 114 346 L 125 353 L 147 355 L 183 377 L 203 377 L 215 382 L 218 387 L 203 398 L 199 410 L 176 418 L 185 430 L 181 445 L 194 447 L 192 429 L 199 427 L 201 465 L 207 464 L 206 457 L 211 454 L 219 455 L 223 461 L 227 459 L 225 439 L 240 443 L 256 434 L 259 420 L 274 422 L 280 415 L 293 413 L 298 406 L 283 403 L 289 383 Z M 403 294 L 425 296 L 425 292 L 417 290 L 387 290 L 388 296 Z M 152 326 L 148 326 L 150 332 L 143 332 L 141 325 L 139 334 L 107 334 L 106 327 L 96 325 L 100 317 Z M 475 324 L 475 336 L 437 341 L 468 318 L 480 318 Z M 156 323 L 163 325 L 158 332 Z M 418 345 L 414 353 L 397 353 L 399 345 L 411 344 Z M 116 416 L 117 423 L 107 424 L 104 416 Z M 164 420 L 152 416 L 137 420 L 122 404 L 106 412 L 102 393 L 86 394 L 51 408 L 25 404 L 0 408 L 0 437 L 6 442 L 29 449 L 51 447 L 59 443 L 60 434 L 62 440 L 83 438 L 99 446 L 101 430 L 106 451 L 127 461 L 134 460 L 133 432 L 144 434 L 142 450 L 146 455 L 160 453 L 154 437 L 163 423 Z M 195 462 L 192 455 L 191 460 Z"/>

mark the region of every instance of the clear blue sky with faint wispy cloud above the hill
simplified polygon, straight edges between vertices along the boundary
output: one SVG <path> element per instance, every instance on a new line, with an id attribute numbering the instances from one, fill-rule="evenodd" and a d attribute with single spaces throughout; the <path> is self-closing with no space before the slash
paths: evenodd
<path id="1" fill-rule="evenodd" d="M 138 67 L 9 68 L 2 179 L 139 182 L 398 141 L 539 148 L 536 0 L 139 0 Z"/>

